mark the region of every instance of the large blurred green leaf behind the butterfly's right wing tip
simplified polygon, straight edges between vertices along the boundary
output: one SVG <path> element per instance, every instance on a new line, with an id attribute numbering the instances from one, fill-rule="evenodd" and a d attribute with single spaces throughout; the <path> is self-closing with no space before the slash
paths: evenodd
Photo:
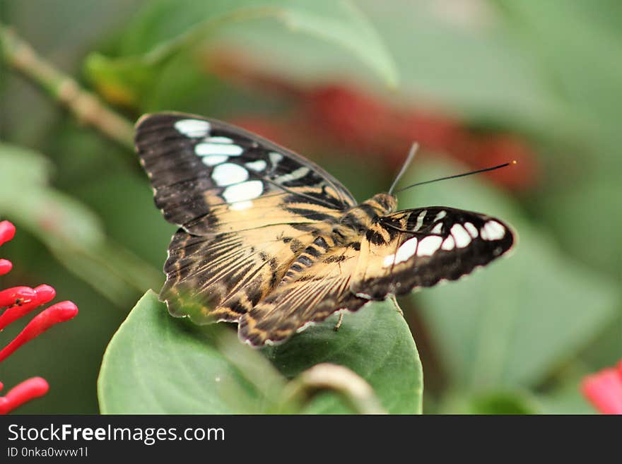
<path id="1" fill-rule="evenodd" d="M 417 171 L 416 178 L 433 179 L 461 169 L 420 165 Z M 415 191 L 410 192 L 406 206 L 414 203 Z M 420 187 L 416 197 L 418 205 L 498 216 L 519 237 L 510 258 L 416 296 L 452 387 L 534 386 L 614 320 L 614 283 L 563 256 L 548 234 L 481 177 Z"/>

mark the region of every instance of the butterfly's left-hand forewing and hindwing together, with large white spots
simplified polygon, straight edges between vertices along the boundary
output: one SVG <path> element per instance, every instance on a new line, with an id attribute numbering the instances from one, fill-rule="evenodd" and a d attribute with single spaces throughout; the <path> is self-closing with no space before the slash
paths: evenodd
<path id="1" fill-rule="evenodd" d="M 180 226 L 160 299 L 197 323 L 237 321 L 356 204 L 314 163 L 221 121 L 147 115 L 135 141 L 156 206 Z"/>

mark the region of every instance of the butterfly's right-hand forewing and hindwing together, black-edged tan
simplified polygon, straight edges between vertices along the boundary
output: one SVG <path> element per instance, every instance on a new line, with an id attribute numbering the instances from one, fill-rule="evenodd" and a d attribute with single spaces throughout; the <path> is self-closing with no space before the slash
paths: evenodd
<path id="1" fill-rule="evenodd" d="M 510 227 L 498 219 L 442 207 L 383 216 L 361 238 L 288 273 L 242 316 L 240 338 L 252 345 L 278 343 L 340 309 L 356 311 L 370 300 L 456 280 L 514 242 Z"/>

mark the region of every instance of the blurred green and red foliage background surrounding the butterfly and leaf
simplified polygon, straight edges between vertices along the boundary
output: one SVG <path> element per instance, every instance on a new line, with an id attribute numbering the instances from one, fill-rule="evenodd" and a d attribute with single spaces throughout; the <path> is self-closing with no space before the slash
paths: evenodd
<path id="1" fill-rule="evenodd" d="M 248 9 L 264 4 L 276 14 Z M 359 201 L 388 189 L 413 141 L 402 185 L 517 160 L 399 196 L 498 215 L 520 237 L 512 258 L 400 300 L 424 412 L 593 412 L 582 377 L 622 357 L 622 4 L 289 4 L 4 0 L 0 15 L 131 124 L 160 110 L 224 119 L 315 160 Z M 20 412 L 95 413 L 102 353 L 163 282 L 175 227 L 128 126 L 105 135 L 58 89 L 0 66 L 0 218 L 18 228 L 0 287 L 47 283 L 80 308 L 0 377 L 49 381 Z"/>

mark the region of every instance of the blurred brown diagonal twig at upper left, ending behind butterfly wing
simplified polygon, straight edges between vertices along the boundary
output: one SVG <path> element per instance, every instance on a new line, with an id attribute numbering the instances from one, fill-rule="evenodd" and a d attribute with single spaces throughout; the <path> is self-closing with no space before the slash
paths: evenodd
<path id="1" fill-rule="evenodd" d="M 124 117 L 113 112 L 93 93 L 38 56 L 11 28 L 0 23 L 0 52 L 9 66 L 40 85 L 54 100 L 71 109 L 78 121 L 99 129 L 124 147 L 134 149 L 134 129 Z"/>

